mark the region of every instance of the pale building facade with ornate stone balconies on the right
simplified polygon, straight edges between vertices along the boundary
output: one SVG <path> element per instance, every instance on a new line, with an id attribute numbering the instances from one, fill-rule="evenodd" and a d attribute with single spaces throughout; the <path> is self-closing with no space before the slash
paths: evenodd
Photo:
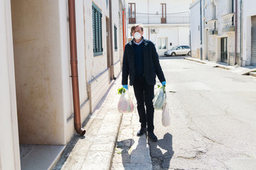
<path id="1" fill-rule="evenodd" d="M 255 66 L 255 1 L 196 0 L 191 11 L 192 57 L 228 65 Z M 201 8 L 201 12 L 200 12 Z"/>

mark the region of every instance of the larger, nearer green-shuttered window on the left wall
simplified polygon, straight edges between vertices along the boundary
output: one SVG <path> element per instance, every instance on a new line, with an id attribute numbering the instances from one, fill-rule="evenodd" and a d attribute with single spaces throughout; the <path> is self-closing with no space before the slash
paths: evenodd
<path id="1" fill-rule="evenodd" d="M 94 3 L 92 3 L 92 30 L 93 30 L 93 55 L 102 55 L 102 13 Z"/>

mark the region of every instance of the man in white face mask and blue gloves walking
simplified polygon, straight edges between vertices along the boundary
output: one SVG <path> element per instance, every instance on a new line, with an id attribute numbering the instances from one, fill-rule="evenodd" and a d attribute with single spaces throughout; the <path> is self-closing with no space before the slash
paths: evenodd
<path id="1" fill-rule="evenodd" d="M 142 25 L 132 26 L 131 32 L 134 39 L 128 42 L 124 48 L 122 85 L 124 89 L 128 89 L 129 75 L 129 84 L 134 86 L 139 122 L 141 123 L 141 129 L 137 132 L 137 136 L 142 136 L 147 130 L 149 140 L 156 142 L 158 139 L 154 135 L 154 106 L 152 101 L 156 75 L 161 84 L 165 85 L 166 80 L 159 64 L 156 47 L 153 42 L 142 36 Z"/>

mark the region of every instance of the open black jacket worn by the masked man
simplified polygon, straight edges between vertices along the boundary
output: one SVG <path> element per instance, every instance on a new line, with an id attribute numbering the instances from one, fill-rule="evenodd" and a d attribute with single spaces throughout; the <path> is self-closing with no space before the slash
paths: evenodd
<path id="1" fill-rule="evenodd" d="M 156 84 L 156 75 L 159 81 L 166 81 L 164 73 L 159 63 L 159 56 L 156 52 L 156 47 L 150 40 L 143 40 L 143 58 L 144 58 L 144 77 L 149 85 Z M 125 45 L 123 67 L 122 67 L 122 85 L 129 84 L 132 86 L 135 79 L 135 63 L 134 63 L 134 40 Z"/>

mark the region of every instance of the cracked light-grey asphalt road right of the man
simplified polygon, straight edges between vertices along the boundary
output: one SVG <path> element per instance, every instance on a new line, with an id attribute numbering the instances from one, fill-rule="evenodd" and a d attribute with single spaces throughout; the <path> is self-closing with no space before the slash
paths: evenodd
<path id="1" fill-rule="evenodd" d="M 171 125 L 154 115 L 153 169 L 256 169 L 256 79 L 159 57 Z"/>

